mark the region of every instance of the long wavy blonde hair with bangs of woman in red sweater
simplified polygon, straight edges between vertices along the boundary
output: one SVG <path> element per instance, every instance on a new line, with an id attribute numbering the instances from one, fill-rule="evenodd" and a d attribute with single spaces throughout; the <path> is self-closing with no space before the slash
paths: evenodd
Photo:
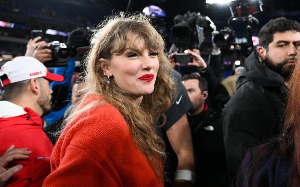
<path id="1" fill-rule="evenodd" d="M 172 66 L 164 52 L 164 39 L 151 25 L 150 19 L 139 12 L 129 15 L 119 12 L 118 15 L 109 16 L 97 27 L 95 33 L 99 32 L 101 34 L 93 44 L 85 61 L 84 90 L 86 93 L 92 92 L 102 96 L 105 102 L 119 110 L 128 123 L 139 150 L 148 158 L 158 180 L 163 181 L 161 160 L 164 159 L 165 153 L 164 143 L 156 133 L 157 121 L 158 117 L 162 116 L 163 124 L 165 123 L 164 113 L 176 97 L 175 81 L 171 76 Z M 144 40 L 145 48 L 158 51 L 160 68 L 154 91 L 144 95 L 140 105 L 134 101 L 135 96 L 120 89 L 113 78 L 110 80 L 110 84 L 107 83 L 107 77 L 103 75 L 99 63 L 99 59 L 104 58 L 109 64 L 114 53 L 122 54 L 128 45 L 131 45 L 128 42 L 128 33 L 134 33 L 141 37 Z M 115 45 L 118 47 L 116 48 Z M 103 101 L 80 107 L 83 104 L 78 104 L 73 108 L 63 127 L 66 127 L 68 122 L 79 114 L 103 104 Z"/>

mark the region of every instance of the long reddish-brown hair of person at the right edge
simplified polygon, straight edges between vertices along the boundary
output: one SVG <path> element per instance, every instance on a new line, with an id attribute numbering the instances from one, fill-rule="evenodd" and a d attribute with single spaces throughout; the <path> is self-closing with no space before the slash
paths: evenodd
<path id="1" fill-rule="evenodd" d="M 290 90 L 287 95 L 285 122 L 281 133 L 274 137 L 267 146 L 261 147 L 259 155 L 250 162 L 245 184 L 251 186 L 251 179 L 256 170 L 264 164 L 270 155 L 278 152 L 278 156 L 290 159 L 291 167 L 288 186 L 296 187 L 300 184 L 300 56 L 298 55 L 295 69 L 289 78 Z"/>

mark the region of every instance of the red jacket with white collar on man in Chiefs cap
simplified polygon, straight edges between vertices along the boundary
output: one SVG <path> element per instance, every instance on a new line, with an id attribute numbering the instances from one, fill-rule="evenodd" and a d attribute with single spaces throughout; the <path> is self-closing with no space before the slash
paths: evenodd
<path id="1" fill-rule="evenodd" d="M 53 144 L 42 130 L 42 118 L 31 108 L 24 108 L 25 114 L 14 117 L 4 114 L 7 110 L 18 111 L 21 108 L 14 105 L 7 101 L 0 102 L 0 156 L 12 144 L 15 148 L 28 147 L 32 154 L 26 160 L 10 163 L 11 166 L 22 164 L 24 167 L 10 178 L 7 186 L 42 186 L 50 173 L 49 157 Z"/>

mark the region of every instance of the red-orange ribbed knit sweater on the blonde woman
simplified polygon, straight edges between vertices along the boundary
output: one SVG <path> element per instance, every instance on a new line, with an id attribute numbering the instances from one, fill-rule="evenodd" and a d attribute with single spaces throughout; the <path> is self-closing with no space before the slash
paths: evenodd
<path id="1" fill-rule="evenodd" d="M 88 94 L 91 103 L 101 97 Z M 73 119 L 51 155 L 43 186 L 158 186 L 121 113 L 103 104 Z"/>

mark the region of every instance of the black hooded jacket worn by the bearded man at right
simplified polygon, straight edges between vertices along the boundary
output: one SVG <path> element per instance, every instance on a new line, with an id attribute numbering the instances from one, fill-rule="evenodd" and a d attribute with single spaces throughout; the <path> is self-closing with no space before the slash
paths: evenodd
<path id="1" fill-rule="evenodd" d="M 235 93 L 223 112 L 223 138 L 230 180 L 246 151 L 276 135 L 282 124 L 287 87 L 253 52 L 237 79 Z"/>

